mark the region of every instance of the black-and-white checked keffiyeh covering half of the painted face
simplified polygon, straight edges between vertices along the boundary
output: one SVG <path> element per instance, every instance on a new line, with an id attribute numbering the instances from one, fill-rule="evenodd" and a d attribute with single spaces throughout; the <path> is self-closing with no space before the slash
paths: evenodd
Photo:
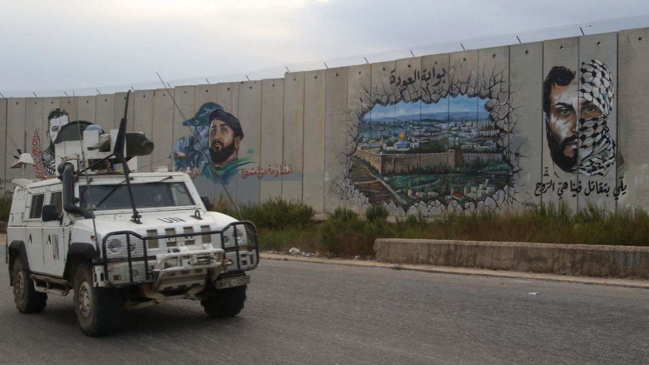
<path id="1" fill-rule="evenodd" d="M 613 79 L 599 60 L 582 62 L 580 73 L 580 98 L 592 103 L 601 114 L 579 119 L 578 170 L 587 176 L 603 176 L 615 162 L 615 142 L 606 125 L 613 104 Z"/>

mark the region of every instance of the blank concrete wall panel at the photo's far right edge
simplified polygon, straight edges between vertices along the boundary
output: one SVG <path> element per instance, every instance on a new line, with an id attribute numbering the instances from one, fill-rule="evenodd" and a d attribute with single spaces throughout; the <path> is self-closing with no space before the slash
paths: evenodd
<path id="1" fill-rule="evenodd" d="M 618 208 L 649 207 L 649 28 L 618 34 Z M 619 182 L 622 181 L 622 184 Z M 615 190 L 614 190 L 615 192 Z"/>

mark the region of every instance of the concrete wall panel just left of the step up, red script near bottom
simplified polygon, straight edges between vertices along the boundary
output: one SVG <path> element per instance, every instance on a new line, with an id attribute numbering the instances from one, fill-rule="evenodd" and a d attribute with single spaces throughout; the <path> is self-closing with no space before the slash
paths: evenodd
<path id="1" fill-rule="evenodd" d="M 284 79 L 262 81 L 260 199 L 282 197 L 282 150 L 284 149 Z"/>

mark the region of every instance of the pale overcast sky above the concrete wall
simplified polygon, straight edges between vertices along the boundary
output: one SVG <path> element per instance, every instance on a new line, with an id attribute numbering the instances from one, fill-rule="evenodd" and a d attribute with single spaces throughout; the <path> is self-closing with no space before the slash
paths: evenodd
<path id="1" fill-rule="evenodd" d="M 3 92 L 247 73 L 647 15 L 649 2 L 1 0 L 0 12 Z"/>

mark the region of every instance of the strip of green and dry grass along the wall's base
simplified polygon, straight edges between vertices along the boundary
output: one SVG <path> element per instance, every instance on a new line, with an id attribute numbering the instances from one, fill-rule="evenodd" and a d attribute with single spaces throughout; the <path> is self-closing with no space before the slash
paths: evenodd
<path id="1" fill-rule="evenodd" d="M 644 210 L 609 214 L 591 205 L 573 214 L 567 205 L 541 205 L 522 214 L 449 214 L 427 220 L 408 216 L 387 223 L 382 214 L 363 220 L 351 210 L 337 209 L 329 220 L 267 232 L 261 228 L 262 249 L 332 253 L 341 257 L 373 257 L 376 238 L 425 238 L 552 244 L 649 245 L 649 215 Z"/>

